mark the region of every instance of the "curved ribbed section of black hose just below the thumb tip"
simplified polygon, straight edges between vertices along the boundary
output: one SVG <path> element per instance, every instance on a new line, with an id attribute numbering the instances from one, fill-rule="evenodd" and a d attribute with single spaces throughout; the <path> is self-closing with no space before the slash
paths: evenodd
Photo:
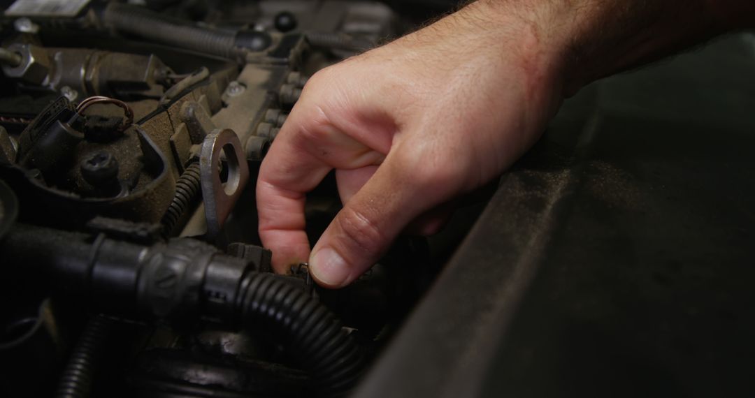
<path id="1" fill-rule="evenodd" d="M 364 368 L 360 347 L 319 301 L 273 274 L 253 272 L 242 281 L 237 303 L 243 325 L 262 324 L 285 338 L 310 372 L 319 396 L 344 396 Z"/>

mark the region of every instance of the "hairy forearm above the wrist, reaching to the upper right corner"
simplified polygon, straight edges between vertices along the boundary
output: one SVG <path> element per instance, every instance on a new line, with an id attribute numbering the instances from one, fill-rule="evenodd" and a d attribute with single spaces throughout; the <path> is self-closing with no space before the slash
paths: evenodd
<path id="1" fill-rule="evenodd" d="M 468 12 L 525 22 L 570 95 L 585 84 L 755 26 L 752 0 L 479 0 Z"/>

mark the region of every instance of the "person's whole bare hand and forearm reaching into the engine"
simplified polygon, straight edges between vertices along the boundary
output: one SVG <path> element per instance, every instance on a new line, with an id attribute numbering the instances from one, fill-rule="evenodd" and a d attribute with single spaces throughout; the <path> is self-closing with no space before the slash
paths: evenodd
<path id="1" fill-rule="evenodd" d="M 753 21 L 751 0 L 479 0 L 322 69 L 257 179 L 273 267 L 347 285 L 403 231 L 437 231 L 584 84 Z M 310 251 L 306 194 L 331 170 L 344 207 Z"/>

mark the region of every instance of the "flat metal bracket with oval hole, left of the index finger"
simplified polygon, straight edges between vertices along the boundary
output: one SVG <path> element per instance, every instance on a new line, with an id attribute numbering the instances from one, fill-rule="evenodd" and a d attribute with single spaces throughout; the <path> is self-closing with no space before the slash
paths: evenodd
<path id="1" fill-rule="evenodd" d="M 220 181 L 221 155 L 227 164 L 226 182 Z M 216 237 L 249 181 L 249 167 L 236 133 L 213 130 L 202 142 L 199 156 L 202 198 L 205 201 L 208 237 Z"/>

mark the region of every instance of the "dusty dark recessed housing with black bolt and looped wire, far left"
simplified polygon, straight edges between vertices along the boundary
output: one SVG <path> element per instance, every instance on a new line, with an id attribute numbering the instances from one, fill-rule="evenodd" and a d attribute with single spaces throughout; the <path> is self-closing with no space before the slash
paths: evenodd
<path id="1" fill-rule="evenodd" d="M 95 103 L 116 103 L 125 118 L 111 119 L 115 123 L 103 130 L 103 119 L 92 122 L 81 114 Z M 131 118 L 118 100 L 94 97 L 77 109 L 60 97 L 20 134 L 17 163 L 0 167 L 0 175 L 25 194 L 35 192 L 43 209 L 67 207 L 67 222 L 82 224 L 94 214 L 158 221 L 173 195 L 173 179 L 162 153 Z M 164 204 L 156 203 L 163 197 Z"/>

